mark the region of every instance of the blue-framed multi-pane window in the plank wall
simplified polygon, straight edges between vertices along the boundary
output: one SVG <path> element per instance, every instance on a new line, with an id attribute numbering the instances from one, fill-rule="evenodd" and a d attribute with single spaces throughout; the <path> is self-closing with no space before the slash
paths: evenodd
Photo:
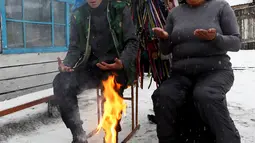
<path id="1" fill-rule="evenodd" d="M 65 51 L 70 0 L 3 0 L 3 53 Z"/>

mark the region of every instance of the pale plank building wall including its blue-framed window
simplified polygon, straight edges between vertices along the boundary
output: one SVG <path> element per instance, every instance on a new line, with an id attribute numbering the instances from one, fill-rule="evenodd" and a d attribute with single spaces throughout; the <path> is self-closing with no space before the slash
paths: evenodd
<path id="1" fill-rule="evenodd" d="M 0 0 L 0 101 L 52 87 L 74 0 Z"/>

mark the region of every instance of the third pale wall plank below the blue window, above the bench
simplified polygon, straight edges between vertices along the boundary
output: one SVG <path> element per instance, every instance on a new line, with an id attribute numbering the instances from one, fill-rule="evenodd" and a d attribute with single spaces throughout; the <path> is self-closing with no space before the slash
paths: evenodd
<path id="1" fill-rule="evenodd" d="M 0 81 L 0 94 L 52 83 L 57 73 Z"/>

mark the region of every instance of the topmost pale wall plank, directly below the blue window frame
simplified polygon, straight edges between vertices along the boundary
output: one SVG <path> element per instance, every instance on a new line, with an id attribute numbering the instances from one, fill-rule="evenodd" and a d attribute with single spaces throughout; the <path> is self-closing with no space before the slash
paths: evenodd
<path id="1" fill-rule="evenodd" d="M 0 68 L 8 66 L 22 66 L 25 64 L 57 61 L 57 57 L 64 59 L 66 53 L 27 53 L 0 56 Z"/>

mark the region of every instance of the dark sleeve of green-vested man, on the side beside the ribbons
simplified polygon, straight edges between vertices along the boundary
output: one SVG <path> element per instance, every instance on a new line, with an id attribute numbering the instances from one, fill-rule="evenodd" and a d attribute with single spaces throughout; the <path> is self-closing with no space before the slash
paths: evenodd
<path id="1" fill-rule="evenodd" d="M 123 41 L 124 50 L 120 55 L 120 60 L 124 68 L 129 68 L 130 62 L 133 62 L 138 52 L 138 38 L 136 28 L 132 21 L 131 12 L 128 7 L 123 10 Z"/>

